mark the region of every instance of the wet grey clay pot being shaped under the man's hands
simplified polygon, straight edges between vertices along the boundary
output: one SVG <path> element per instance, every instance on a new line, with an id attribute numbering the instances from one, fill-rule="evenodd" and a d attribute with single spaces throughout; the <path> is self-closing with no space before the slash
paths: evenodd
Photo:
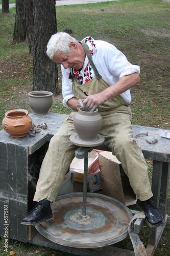
<path id="1" fill-rule="evenodd" d="M 98 109 L 93 112 L 83 111 L 79 108 L 78 113 L 74 116 L 75 130 L 81 140 L 94 140 L 102 127 L 102 116 L 98 113 Z"/>

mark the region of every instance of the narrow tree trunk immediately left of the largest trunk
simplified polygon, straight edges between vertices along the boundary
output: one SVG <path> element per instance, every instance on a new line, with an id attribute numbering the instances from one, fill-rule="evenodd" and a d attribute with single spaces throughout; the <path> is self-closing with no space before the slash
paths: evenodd
<path id="1" fill-rule="evenodd" d="M 26 27 L 29 44 L 29 53 L 34 49 L 34 3 L 33 0 L 25 0 Z"/>

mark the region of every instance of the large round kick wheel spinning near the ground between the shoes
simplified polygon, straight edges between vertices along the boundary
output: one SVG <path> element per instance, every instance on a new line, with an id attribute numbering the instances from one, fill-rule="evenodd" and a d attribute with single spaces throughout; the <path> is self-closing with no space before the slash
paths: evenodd
<path id="1" fill-rule="evenodd" d="M 82 216 L 82 193 L 57 197 L 53 219 L 36 226 L 47 239 L 70 247 L 110 245 L 128 235 L 132 213 L 123 203 L 101 194 L 87 193 L 86 216 Z"/>

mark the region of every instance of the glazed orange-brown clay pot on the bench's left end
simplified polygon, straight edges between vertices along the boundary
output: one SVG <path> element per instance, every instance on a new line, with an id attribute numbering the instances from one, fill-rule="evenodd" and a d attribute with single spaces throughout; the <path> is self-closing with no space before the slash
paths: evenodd
<path id="1" fill-rule="evenodd" d="M 30 131 L 32 119 L 27 110 L 16 109 L 5 113 L 3 129 L 13 138 L 22 138 Z"/>

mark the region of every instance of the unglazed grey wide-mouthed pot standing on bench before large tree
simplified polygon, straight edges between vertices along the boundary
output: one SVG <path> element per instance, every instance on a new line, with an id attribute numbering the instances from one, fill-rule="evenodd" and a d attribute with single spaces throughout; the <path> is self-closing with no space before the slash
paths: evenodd
<path id="1" fill-rule="evenodd" d="M 29 104 L 36 115 L 46 115 L 53 103 L 53 93 L 35 91 L 29 94 Z"/>

